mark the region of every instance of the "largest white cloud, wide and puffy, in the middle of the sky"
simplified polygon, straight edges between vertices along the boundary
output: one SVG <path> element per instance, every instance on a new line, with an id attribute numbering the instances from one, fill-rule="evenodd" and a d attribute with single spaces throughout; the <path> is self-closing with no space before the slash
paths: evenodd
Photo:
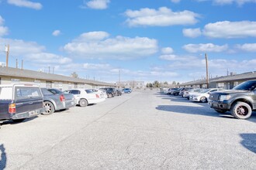
<path id="1" fill-rule="evenodd" d="M 108 36 L 107 32 L 83 33 L 63 49 L 72 56 L 89 59 L 137 59 L 157 53 L 156 39 L 123 36 L 107 38 Z"/>

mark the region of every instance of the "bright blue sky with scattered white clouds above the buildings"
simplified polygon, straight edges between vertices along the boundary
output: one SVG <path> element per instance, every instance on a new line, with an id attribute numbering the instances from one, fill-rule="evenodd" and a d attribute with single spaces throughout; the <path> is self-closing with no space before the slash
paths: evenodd
<path id="1" fill-rule="evenodd" d="M 0 62 L 109 83 L 256 71 L 256 0 L 0 0 Z M 50 68 L 50 69 L 49 69 Z"/>

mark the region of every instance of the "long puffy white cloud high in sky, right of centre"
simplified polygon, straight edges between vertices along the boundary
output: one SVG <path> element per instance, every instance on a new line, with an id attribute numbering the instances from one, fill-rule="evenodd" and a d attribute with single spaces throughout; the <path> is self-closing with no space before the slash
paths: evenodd
<path id="1" fill-rule="evenodd" d="M 198 20 L 199 14 L 191 11 L 172 12 L 170 8 L 161 7 L 141 8 L 139 11 L 126 10 L 129 26 L 175 26 L 193 25 Z"/>

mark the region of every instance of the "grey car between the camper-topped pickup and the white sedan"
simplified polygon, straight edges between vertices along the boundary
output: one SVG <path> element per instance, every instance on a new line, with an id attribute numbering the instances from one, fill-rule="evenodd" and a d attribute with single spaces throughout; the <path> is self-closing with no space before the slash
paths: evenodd
<path id="1" fill-rule="evenodd" d="M 43 106 L 45 107 L 44 115 L 53 114 L 56 110 L 65 110 L 74 107 L 74 98 L 66 103 L 64 94 L 52 93 L 47 88 L 41 88 L 43 93 Z"/>

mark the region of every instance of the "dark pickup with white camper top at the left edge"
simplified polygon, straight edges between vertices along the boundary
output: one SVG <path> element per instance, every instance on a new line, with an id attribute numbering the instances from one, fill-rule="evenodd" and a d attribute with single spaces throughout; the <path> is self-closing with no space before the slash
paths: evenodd
<path id="1" fill-rule="evenodd" d="M 0 125 L 2 121 L 23 121 L 44 111 L 39 86 L 20 83 L 0 85 Z"/>

